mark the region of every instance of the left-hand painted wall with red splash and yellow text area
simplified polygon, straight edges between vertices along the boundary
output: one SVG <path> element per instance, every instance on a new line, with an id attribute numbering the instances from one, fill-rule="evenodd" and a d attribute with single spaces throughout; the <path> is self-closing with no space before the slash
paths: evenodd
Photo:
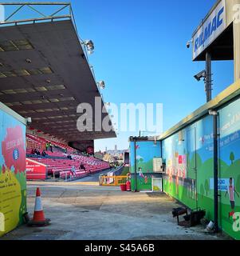
<path id="1" fill-rule="evenodd" d="M 26 126 L 0 110 L 0 236 L 26 213 Z"/>

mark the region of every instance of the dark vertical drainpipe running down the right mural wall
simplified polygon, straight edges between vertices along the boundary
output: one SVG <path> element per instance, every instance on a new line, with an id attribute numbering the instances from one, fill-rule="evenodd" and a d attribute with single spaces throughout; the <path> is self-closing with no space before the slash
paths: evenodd
<path id="1" fill-rule="evenodd" d="M 210 110 L 209 114 L 213 116 L 214 134 L 214 232 L 218 233 L 218 112 Z"/>

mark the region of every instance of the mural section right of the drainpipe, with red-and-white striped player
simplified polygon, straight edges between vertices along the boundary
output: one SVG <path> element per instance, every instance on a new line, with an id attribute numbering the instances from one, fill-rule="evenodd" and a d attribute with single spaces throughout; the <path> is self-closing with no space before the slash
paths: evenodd
<path id="1" fill-rule="evenodd" d="M 220 223 L 232 237 L 240 239 L 240 100 L 219 110 Z M 213 179 L 210 180 L 212 190 Z M 238 230 L 233 230 L 236 226 Z"/>

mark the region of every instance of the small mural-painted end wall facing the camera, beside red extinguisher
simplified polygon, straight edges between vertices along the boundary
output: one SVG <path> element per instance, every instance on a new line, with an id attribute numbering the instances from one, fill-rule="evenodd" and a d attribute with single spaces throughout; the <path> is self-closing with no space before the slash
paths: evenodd
<path id="1" fill-rule="evenodd" d="M 134 142 L 130 142 L 130 170 L 132 190 L 135 190 L 135 157 L 136 157 L 136 190 L 151 191 L 152 177 L 161 174 L 153 173 L 153 158 L 161 157 L 160 142 L 140 141 L 136 142 L 136 156 Z"/>

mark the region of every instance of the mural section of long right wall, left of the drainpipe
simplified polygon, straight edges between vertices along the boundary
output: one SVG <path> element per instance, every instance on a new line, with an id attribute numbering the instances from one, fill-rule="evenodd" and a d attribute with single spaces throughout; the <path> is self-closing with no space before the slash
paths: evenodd
<path id="1" fill-rule="evenodd" d="M 213 177 L 212 118 L 208 116 L 163 141 L 163 162 L 166 176 L 163 189 L 191 209 L 207 210 L 213 218 L 213 196 L 210 178 Z"/>

